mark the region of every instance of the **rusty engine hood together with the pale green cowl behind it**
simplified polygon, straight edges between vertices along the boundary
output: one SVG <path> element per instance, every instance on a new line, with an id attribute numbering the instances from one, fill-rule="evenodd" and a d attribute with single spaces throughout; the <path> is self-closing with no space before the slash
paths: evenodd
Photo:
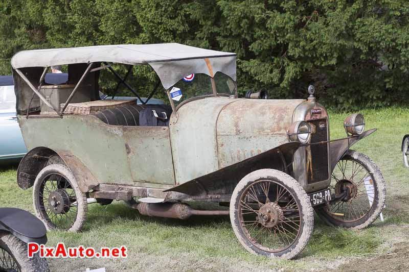
<path id="1" fill-rule="evenodd" d="M 288 142 L 286 129 L 302 102 L 208 97 L 184 104 L 170 123 L 176 184 Z"/>

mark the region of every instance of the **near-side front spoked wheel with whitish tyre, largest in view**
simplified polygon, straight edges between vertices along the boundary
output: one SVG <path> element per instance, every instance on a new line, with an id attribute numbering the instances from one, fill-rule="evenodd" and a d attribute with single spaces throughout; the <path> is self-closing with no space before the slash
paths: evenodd
<path id="1" fill-rule="evenodd" d="M 306 246 L 314 225 L 301 185 L 284 172 L 261 169 L 245 176 L 230 202 L 234 233 L 252 253 L 291 259 Z"/>

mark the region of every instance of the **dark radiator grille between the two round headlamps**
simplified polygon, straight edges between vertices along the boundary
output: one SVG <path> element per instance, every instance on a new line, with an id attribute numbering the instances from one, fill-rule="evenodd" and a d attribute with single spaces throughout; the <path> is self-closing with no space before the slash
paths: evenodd
<path id="1" fill-rule="evenodd" d="M 308 122 L 311 124 L 311 130 L 315 130 L 315 133 L 311 133 L 311 143 L 328 140 L 328 124 L 326 119 L 311 120 Z M 308 165 L 309 149 L 311 151 L 310 160 L 312 165 Z M 306 151 L 308 184 L 328 180 L 328 144 L 312 144 L 306 148 Z"/>

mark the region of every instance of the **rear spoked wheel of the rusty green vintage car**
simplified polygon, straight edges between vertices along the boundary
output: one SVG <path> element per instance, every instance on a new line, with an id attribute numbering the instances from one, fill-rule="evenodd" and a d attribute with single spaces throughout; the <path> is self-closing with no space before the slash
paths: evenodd
<path id="1" fill-rule="evenodd" d="M 47 229 L 79 231 L 85 221 L 87 202 L 70 169 L 61 164 L 44 167 L 33 189 L 36 215 Z"/>

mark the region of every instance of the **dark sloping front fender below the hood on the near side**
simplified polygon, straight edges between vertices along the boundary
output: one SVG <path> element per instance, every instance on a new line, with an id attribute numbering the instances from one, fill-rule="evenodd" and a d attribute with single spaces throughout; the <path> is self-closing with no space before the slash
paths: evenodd
<path id="1" fill-rule="evenodd" d="M 172 187 L 165 192 L 184 193 L 192 199 L 217 198 L 220 201 L 230 201 L 230 195 L 237 183 L 249 172 L 263 168 L 274 168 L 289 173 L 291 171 L 289 166 L 292 163 L 294 153 L 300 145 L 299 142 L 287 142 L 254 157 Z"/>

